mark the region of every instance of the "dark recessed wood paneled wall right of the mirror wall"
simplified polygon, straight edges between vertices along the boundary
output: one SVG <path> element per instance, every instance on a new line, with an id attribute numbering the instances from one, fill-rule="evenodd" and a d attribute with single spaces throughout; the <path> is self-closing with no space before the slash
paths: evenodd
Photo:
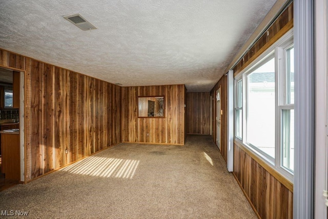
<path id="1" fill-rule="evenodd" d="M 187 93 L 187 133 L 210 133 L 210 92 Z"/>

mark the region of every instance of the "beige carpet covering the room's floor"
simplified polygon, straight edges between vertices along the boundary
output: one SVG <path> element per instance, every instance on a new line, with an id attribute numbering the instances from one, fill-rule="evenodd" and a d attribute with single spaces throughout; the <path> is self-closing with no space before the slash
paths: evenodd
<path id="1" fill-rule="evenodd" d="M 256 218 L 207 135 L 188 135 L 185 146 L 119 144 L 0 192 L 0 210 L 31 218 Z"/>

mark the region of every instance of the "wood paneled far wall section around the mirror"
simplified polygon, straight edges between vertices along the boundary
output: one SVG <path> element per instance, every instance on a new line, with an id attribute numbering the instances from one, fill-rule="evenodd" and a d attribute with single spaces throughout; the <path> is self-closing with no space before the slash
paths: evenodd
<path id="1" fill-rule="evenodd" d="M 138 118 L 138 96 L 164 96 L 165 118 Z M 122 88 L 122 141 L 185 143 L 185 86 Z"/>

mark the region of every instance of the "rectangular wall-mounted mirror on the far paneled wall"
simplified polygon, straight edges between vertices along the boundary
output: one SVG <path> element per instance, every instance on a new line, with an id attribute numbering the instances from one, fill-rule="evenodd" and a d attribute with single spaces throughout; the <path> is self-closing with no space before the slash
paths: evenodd
<path id="1" fill-rule="evenodd" d="M 164 96 L 139 96 L 139 117 L 165 117 Z"/>

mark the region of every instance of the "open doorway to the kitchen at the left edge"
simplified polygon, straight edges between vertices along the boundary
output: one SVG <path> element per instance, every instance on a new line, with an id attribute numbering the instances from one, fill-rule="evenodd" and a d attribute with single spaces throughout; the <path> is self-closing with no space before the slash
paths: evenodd
<path id="1" fill-rule="evenodd" d="M 24 182 L 23 84 L 24 72 L 0 67 L 0 191 Z"/>

